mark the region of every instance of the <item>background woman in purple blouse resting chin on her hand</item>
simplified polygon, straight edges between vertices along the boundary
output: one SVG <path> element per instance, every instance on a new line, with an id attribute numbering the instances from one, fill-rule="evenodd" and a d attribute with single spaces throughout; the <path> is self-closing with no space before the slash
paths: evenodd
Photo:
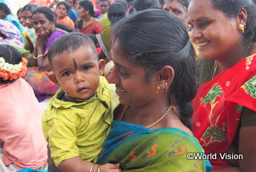
<path id="1" fill-rule="evenodd" d="M 47 54 L 50 44 L 62 34 L 66 34 L 66 31 L 56 27 L 54 12 L 49 7 L 38 7 L 34 10 L 32 18 L 38 37 L 32 57 L 29 58 L 33 67 L 27 70 L 25 80 L 30 83 L 38 101 L 41 102 L 48 94 L 55 94 L 58 90 L 58 86 L 48 78 L 51 67 Z"/>

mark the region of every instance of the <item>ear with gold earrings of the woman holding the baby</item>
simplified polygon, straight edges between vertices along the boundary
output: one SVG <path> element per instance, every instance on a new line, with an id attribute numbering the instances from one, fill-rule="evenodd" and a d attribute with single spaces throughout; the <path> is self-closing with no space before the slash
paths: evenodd
<path id="1" fill-rule="evenodd" d="M 163 66 L 159 71 L 159 82 L 161 86 L 169 88 L 171 82 L 174 80 L 174 68 L 171 66 Z"/>

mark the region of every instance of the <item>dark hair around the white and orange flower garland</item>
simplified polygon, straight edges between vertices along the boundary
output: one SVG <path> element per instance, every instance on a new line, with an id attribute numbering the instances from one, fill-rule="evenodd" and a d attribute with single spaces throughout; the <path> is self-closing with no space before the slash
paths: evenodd
<path id="1" fill-rule="evenodd" d="M 0 44 L 0 57 L 12 65 L 22 62 L 22 55 L 18 52 L 18 50 L 7 44 Z M 3 78 L 0 78 L 0 83 L 10 83 L 14 81 L 15 80 L 10 79 L 5 81 Z"/>

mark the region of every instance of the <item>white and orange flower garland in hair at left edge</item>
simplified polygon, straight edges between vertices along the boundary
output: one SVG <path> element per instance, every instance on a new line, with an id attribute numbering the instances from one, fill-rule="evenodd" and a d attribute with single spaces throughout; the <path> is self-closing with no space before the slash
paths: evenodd
<path id="1" fill-rule="evenodd" d="M 26 58 L 22 58 L 22 62 L 19 62 L 16 65 L 10 64 L 5 61 L 4 58 L 0 58 L 0 78 L 3 80 L 13 80 L 19 77 L 22 77 L 26 72 Z"/>

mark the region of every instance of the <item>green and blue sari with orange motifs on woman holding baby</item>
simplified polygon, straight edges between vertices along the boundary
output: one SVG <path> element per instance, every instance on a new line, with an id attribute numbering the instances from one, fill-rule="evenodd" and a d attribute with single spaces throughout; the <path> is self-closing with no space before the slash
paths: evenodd
<path id="1" fill-rule="evenodd" d="M 208 161 L 189 160 L 188 153 L 203 154 L 203 150 L 182 130 L 150 130 L 114 121 L 98 163 L 119 163 L 122 171 L 211 171 Z"/>

